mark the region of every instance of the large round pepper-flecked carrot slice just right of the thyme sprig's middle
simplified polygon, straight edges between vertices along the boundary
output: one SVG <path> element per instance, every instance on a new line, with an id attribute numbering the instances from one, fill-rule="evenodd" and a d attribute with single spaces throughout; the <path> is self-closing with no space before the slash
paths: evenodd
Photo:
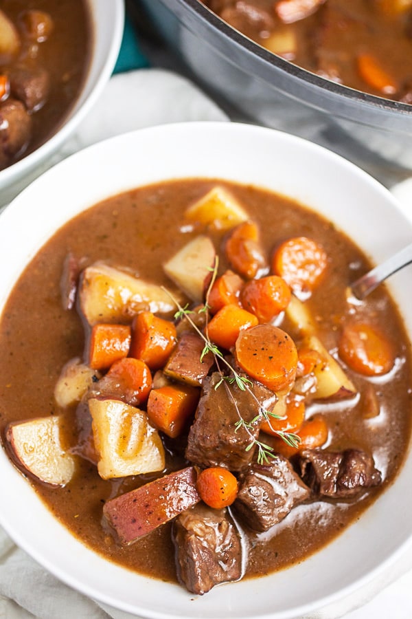
<path id="1" fill-rule="evenodd" d="M 241 331 L 236 340 L 236 360 L 249 376 L 272 391 L 283 391 L 295 380 L 297 349 L 279 327 L 265 324 Z"/>

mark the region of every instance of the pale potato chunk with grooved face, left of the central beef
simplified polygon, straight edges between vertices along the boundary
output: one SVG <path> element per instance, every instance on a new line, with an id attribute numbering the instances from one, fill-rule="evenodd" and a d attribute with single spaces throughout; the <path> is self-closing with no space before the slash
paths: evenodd
<path id="1" fill-rule="evenodd" d="M 121 400 L 91 398 L 93 438 L 102 479 L 162 470 L 165 452 L 161 438 L 144 411 Z"/>

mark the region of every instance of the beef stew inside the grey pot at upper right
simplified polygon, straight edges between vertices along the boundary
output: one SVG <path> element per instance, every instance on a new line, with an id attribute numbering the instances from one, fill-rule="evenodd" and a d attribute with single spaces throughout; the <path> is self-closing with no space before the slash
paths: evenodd
<path id="1" fill-rule="evenodd" d="M 412 102 L 407 0 L 201 0 L 270 52 L 356 90 Z"/>

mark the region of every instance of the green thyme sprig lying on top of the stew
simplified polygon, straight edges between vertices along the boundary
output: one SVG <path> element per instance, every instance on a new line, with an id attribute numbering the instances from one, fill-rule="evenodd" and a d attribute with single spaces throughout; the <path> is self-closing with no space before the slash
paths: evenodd
<path id="1" fill-rule="evenodd" d="M 216 281 L 216 276 L 218 272 L 218 257 L 217 256 L 215 259 L 214 266 L 210 270 L 211 270 L 212 276 L 209 282 L 209 286 L 207 287 L 206 302 L 205 302 L 205 305 L 203 305 L 203 307 L 201 307 L 197 311 L 198 314 L 206 313 L 210 307 L 207 301 L 209 298 L 211 287 L 214 285 L 214 282 Z M 229 397 L 231 398 L 231 400 L 233 401 L 233 405 L 235 406 L 236 412 L 238 413 L 238 416 L 239 416 L 239 420 L 235 424 L 235 432 L 238 432 L 241 428 L 244 431 L 246 431 L 249 437 L 251 438 L 251 442 L 249 442 L 249 445 L 246 447 L 246 450 L 250 451 L 251 448 L 255 446 L 258 449 L 258 464 L 267 464 L 270 461 L 270 459 L 276 457 L 276 455 L 274 453 L 273 447 L 261 442 L 258 438 L 255 437 L 253 433 L 254 424 L 258 420 L 260 420 L 260 417 L 264 417 L 264 420 L 266 420 L 268 424 L 271 424 L 271 419 L 282 419 L 282 415 L 277 415 L 277 413 L 274 413 L 273 411 L 268 411 L 264 408 L 264 406 L 262 406 L 258 398 L 255 396 L 255 394 L 251 390 L 251 385 L 253 385 L 253 382 L 250 380 L 250 378 L 247 378 L 247 376 L 241 376 L 240 373 L 238 373 L 236 369 L 234 369 L 231 363 L 222 354 L 222 351 L 220 350 L 220 348 L 216 344 L 211 342 L 209 336 L 207 335 L 207 328 L 205 329 L 206 335 L 205 333 L 203 333 L 201 329 L 199 329 L 198 325 L 196 325 L 196 323 L 192 319 L 192 314 L 196 314 L 196 312 L 194 310 L 190 310 L 189 304 L 186 303 L 184 307 L 181 306 L 179 301 L 177 301 L 176 298 L 174 298 L 174 296 L 168 290 L 166 289 L 164 290 L 165 292 L 168 292 L 168 294 L 170 295 L 170 297 L 176 304 L 176 307 L 178 308 L 177 312 L 174 314 L 174 318 L 176 320 L 179 318 L 183 318 L 183 317 L 187 318 L 187 321 L 190 323 L 192 328 L 196 331 L 196 333 L 202 338 L 203 342 L 205 343 L 203 351 L 201 352 L 201 361 L 209 353 L 214 355 L 216 367 L 218 368 L 218 372 L 220 373 L 220 380 L 218 380 L 214 389 L 218 389 L 220 385 L 225 384 L 227 393 Z M 222 369 L 220 368 L 220 362 L 226 365 L 226 367 L 229 369 L 230 371 L 229 376 L 223 373 Z M 236 384 L 238 389 L 240 389 L 241 391 L 248 391 L 248 393 L 252 396 L 255 402 L 258 403 L 259 413 L 250 422 L 245 421 L 244 418 L 242 417 L 239 411 L 238 403 L 233 397 L 233 393 L 229 389 L 229 385 L 231 384 Z M 296 448 L 297 446 L 299 446 L 300 437 L 298 435 L 294 433 L 284 432 L 284 431 L 277 431 L 274 428 L 273 428 L 273 431 L 275 432 L 276 435 L 282 438 L 288 446 L 293 447 L 293 448 Z"/>

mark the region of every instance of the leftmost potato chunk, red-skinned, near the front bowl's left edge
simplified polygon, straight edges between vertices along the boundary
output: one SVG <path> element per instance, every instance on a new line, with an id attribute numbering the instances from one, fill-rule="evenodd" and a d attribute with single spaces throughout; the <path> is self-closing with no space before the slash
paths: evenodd
<path id="1" fill-rule="evenodd" d="M 50 415 L 10 424 L 6 432 L 17 464 L 45 484 L 65 486 L 76 457 L 62 447 L 62 417 Z"/>

